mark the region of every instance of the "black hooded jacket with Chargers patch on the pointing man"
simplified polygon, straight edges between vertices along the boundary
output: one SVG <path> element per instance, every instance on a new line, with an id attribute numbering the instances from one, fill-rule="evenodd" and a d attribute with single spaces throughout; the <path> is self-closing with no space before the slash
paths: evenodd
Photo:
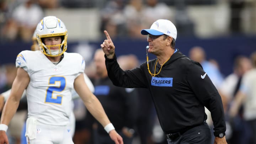
<path id="1" fill-rule="evenodd" d="M 180 132 L 207 119 L 204 106 L 211 112 L 214 135 L 225 133 L 225 119 L 221 97 L 198 62 L 181 52 L 174 53 L 155 77 L 146 62 L 139 68 L 123 71 L 116 60 L 106 58 L 108 76 L 113 84 L 122 87 L 148 88 L 153 98 L 162 130 Z M 154 73 L 157 59 L 149 61 Z M 160 70 L 156 65 L 156 73 Z"/>

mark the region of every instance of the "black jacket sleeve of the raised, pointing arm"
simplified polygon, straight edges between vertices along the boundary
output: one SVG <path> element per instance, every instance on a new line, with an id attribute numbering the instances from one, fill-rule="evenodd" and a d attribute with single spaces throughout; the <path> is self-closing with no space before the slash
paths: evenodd
<path id="1" fill-rule="evenodd" d="M 108 77 L 115 86 L 126 88 L 146 88 L 146 78 L 145 75 L 143 75 L 142 66 L 124 71 L 117 63 L 116 54 L 114 55 L 113 59 L 108 59 L 105 55 L 105 59 Z"/>

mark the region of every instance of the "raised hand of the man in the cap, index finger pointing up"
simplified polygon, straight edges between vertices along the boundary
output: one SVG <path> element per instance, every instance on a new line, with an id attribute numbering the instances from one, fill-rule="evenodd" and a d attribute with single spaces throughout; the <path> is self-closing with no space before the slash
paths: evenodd
<path id="1" fill-rule="evenodd" d="M 107 31 L 104 31 L 107 39 L 104 40 L 104 42 L 101 44 L 101 48 L 103 52 L 106 54 L 107 58 L 112 59 L 114 58 L 114 44 L 110 38 L 110 35 Z"/>

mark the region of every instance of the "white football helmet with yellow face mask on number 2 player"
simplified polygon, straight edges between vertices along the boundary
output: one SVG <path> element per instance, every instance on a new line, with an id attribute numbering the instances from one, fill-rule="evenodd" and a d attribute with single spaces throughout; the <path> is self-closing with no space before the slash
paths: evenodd
<path id="1" fill-rule="evenodd" d="M 47 56 L 57 57 L 62 55 L 67 48 L 67 37 L 68 31 L 66 30 L 66 26 L 64 23 L 55 16 L 47 16 L 44 17 L 37 25 L 36 28 L 37 42 L 39 45 L 39 49 Z M 46 37 L 56 37 L 60 36 L 62 39 L 61 44 L 47 46 L 44 44 L 43 39 Z M 58 50 L 51 50 L 51 47 L 58 46 Z"/>

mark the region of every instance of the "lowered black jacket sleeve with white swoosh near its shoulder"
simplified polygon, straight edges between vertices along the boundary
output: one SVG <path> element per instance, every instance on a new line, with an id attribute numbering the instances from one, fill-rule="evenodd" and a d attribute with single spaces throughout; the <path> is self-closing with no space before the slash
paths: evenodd
<path id="1" fill-rule="evenodd" d="M 187 81 L 199 101 L 210 111 L 213 119 L 214 135 L 225 133 L 226 124 L 222 99 L 199 63 L 194 62 L 188 65 Z"/>

